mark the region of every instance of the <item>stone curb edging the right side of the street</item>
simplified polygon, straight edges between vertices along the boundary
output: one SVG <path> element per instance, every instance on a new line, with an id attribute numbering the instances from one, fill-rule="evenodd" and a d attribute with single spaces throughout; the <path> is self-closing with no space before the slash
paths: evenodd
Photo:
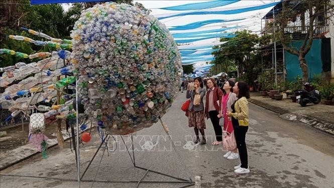
<path id="1" fill-rule="evenodd" d="M 328 122 L 324 122 L 321 120 L 318 120 L 314 117 L 311 116 L 305 116 L 302 114 L 296 114 L 296 113 L 291 113 L 288 110 L 285 110 L 283 108 L 280 107 L 275 107 L 272 105 L 269 105 L 267 103 L 263 103 L 259 100 L 255 100 L 255 99 L 248 99 L 248 101 L 250 103 L 253 103 L 254 105 L 260 106 L 262 108 L 265 108 L 267 110 L 270 110 L 272 112 L 278 113 L 280 114 L 279 117 L 284 119 L 284 120 L 288 120 L 288 121 L 299 121 L 302 123 L 305 123 L 309 126 L 312 126 L 320 131 L 326 132 L 328 134 L 334 135 L 334 124 L 332 123 L 328 123 Z"/>

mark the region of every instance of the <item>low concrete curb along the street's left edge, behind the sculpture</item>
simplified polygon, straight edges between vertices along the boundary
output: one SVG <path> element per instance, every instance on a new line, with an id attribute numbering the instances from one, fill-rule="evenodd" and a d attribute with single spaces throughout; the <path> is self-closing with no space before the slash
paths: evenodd
<path id="1" fill-rule="evenodd" d="M 92 126 L 91 128 L 94 128 L 95 126 Z M 89 130 L 90 128 L 86 128 L 85 131 Z M 64 141 L 67 141 L 68 139 L 72 138 L 72 136 L 68 136 L 66 130 L 62 131 Z M 79 132 L 80 134 L 80 132 Z M 56 145 L 58 145 L 57 139 L 48 139 L 46 141 L 49 145 L 49 148 L 52 148 Z M 12 166 L 18 162 L 21 162 L 37 153 L 40 153 L 35 146 L 28 143 L 24 146 L 18 147 L 16 149 L 7 151 L 4 153 L 2 157 L 0 157 L 0 170 L 4 170 L 8 168 L 9 166 Z"/>

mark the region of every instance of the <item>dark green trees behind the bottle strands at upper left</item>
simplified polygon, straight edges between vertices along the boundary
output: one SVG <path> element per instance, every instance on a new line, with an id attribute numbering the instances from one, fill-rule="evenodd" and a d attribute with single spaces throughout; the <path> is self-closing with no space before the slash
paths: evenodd
<path id="1" fill-rule="evenodd" d="M 133 4 L 132 0 L 118 0 L 147 11 L 142 4 Z M 53 38 L 70 39 L 70 31 L 79 19 L 81 11 L 92 7 L 96 3 L 76 3 L 64 12 L 60 4 L 30 6 L 29 0 L 9 0 L 0 4 L 0 48 L 32 54 L 40 51 L 54 51 L 56 49 L 41 47 L 29 42 L 9 39 L 8 35 L 22 35 L 34 40 L 45 41 L 41 37 L 29 34 L 21 27 L 43 32 Z M 1 54 L 2 67 L 14 65 L 17 62 L 31 63 L 30 59 L 18 58 L 13 55 Z M 34 60 L 35 61 L 35 60 Z"/>

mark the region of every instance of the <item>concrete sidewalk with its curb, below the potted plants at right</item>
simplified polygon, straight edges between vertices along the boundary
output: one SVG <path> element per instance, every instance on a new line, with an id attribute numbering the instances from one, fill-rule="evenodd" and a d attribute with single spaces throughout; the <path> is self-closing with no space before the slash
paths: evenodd
<path id="1" fill-rule="evenodd" d="M 280 114 L 282 119 L 300 121 L 334 135 L 333 105 L 328 106 L 320 103 L 317 105 L 308 104 L 306 107 L 301 107 L 298 103 L 292 103 L 289 97 L 282 101 L 276 101 L 269 97 L 262 97 L 260 92 L 251 92 L 249 102 Z"/>

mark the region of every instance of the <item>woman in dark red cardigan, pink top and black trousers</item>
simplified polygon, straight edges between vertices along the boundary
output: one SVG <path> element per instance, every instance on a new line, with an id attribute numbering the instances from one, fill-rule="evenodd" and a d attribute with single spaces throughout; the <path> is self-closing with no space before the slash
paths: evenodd
<path id="1" fill-rule="evenodd" d="M 215 141 L 212 142 L 212 145 L 218 145 L 222 141 L 222 131 L 221 127 L 219 126 L 219 118 L 217 117 L 220 114 L 220 104 L 221 104 L 221 97 L 222 91 L 217 87 L 216 82 L 214 79 L 209 78 L 206 81 L 206 86 L 208 91 L 206 92 L 206 100 L 205 100 L 205 117 L 210 118 L 214 134 L 215 134 Z M 219 103 L 217 104 L 217 101 Z"/>

